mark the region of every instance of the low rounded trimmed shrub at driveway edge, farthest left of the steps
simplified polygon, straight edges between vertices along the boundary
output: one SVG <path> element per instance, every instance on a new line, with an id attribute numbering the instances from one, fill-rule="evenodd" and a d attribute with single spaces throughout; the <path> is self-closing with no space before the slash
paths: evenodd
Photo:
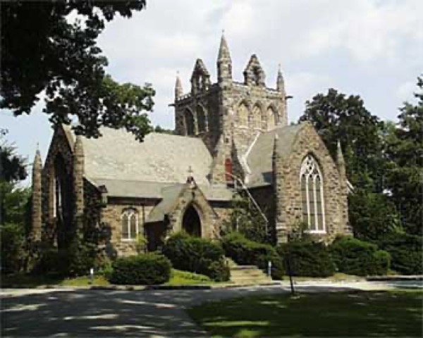
<path id="1" fill-rule="evenodd" d="M 171 277 L 171 262 L 158 253 L 117 258 L 112 268 L 114 284 L 162 284 Z"/>

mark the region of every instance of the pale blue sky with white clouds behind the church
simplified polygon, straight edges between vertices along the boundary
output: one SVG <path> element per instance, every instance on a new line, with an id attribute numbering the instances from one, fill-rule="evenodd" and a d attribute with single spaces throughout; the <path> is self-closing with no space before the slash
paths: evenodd
<path id="1" fill-rule="evenodd" d="M 173 128 L 176 74 L 190 92 L 195 60 L 202 58 L 216 82 L 222 31 L 233 77 L 243 80 L 257 54 L 268 87 L 276 87 L 281 65 L 292 95 L 288 118 L 296 122 L 305 101 L 329 88 L 360 95 L 382 120 L 396 120 L 404 101 L 413 101 L 423 73 L 421 0 L 147 0 L 145 11 L 116 17 L 98 39 L 118 82 L 152 83 L 154 125 Z M 39 144 L 44 160 L 52 130 L 42 102 L 30 115 L 0 112 L 6 140 L 32 162 Z M 29 180 L 25 181 L 29 182 Z"/>

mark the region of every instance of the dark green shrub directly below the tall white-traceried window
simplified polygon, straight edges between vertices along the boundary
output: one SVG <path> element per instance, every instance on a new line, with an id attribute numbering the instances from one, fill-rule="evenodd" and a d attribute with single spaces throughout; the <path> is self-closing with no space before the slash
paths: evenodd
<path id="1" fill-rule="evenodd" d="M 323 243 L 288 242 L 280 244 L 277 251 L 284 265 L 287 265 L 289 259 L 293 276 L 329 277 L 335 272 L 335 265 Z"/>

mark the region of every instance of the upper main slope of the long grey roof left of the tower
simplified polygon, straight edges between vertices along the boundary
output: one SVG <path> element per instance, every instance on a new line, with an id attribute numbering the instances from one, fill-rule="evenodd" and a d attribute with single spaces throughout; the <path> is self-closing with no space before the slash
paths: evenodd
<path id="1" fill-rule="evenodd" d="M 208 184 L 212 156 L 201 139 L 147 134 L 138 142 L 125 130 L 102 128 L 98 139 L 82 137 L 85 175 L 97 179 L 183 183 L 191 166 L 198 184 Z"/>

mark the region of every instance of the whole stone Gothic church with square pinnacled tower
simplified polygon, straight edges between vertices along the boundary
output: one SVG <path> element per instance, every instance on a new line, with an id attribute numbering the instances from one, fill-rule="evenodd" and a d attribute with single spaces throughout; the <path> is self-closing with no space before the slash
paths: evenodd
<path id="1" fill-rule="evenodd" d="M 157 249 L 171 232 L 219 237 L 235 191 L 249 196 L 275 242 L 293 227 L 330 240 L 350 232 L 345 163 L 329 151 L 310 123 L 288 125 L 285 84 L 266 87 L 252 55 L 243 82 L 232 75 L 224 37 L 217 82 L 201 59 L 190 92 L 176 80 L 174 134 L 148 134 L 140 143 L 124 130 L 103 128 L 87 139 L 56 127 L 47 158 L 33 166 L 32 223 L 35 239 L 66 245 L 73 220 L 84 215 L 109 226 L 108 245 L 135 253 L 137 233 Z"/>

